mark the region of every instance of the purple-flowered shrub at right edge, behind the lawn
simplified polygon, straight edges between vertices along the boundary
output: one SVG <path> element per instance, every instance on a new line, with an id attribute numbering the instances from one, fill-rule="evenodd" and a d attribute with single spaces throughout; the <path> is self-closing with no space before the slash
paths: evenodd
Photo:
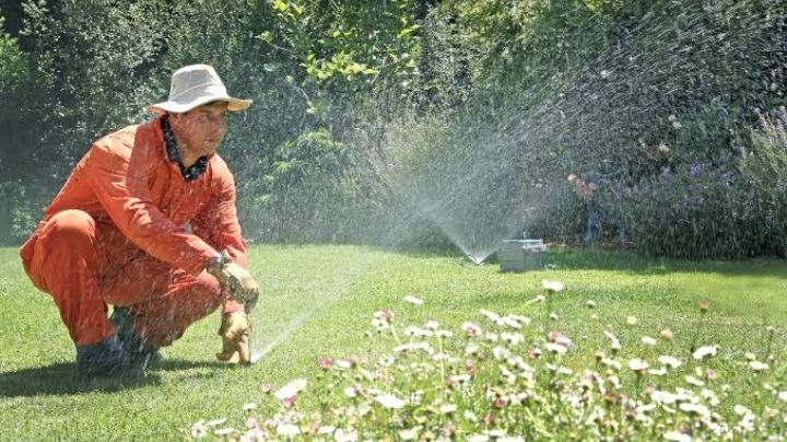
<path id="1" fill-rule="evenodd" d="M 755 116 L 751 149 L 684 159 L 634 184 L 601 187 L 599 205 L 646 254 L 787 256 L 787 111 Z"/>

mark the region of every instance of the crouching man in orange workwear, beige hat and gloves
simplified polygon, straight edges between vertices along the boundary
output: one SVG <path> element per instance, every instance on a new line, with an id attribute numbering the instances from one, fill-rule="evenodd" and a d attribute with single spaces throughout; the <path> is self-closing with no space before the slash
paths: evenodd
<path id="1" fill-rule="evenodd" d="M 233 175 L 215 152 L 227 112 L 250 104 L 210 66 L 178 69 L 169 98 L 148 108 L 158 116 L 95 141 L 22 246 L 81 373 L 140 375 L 222 304 L 216 357 L 249 362 L 245 310 L 259 289 L 244 269 Z"/>

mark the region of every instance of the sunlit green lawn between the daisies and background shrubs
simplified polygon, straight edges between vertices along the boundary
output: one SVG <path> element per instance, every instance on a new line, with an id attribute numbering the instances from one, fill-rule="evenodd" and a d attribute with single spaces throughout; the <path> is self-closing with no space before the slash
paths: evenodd
<path id="1" fill-rule="evenodd" d="M 560 329 L 580 349 L 566 363 L 573 369 L 590 364 L 596 349 L 609 347 L 603 330 L 615 334 L 625 354 L 638 348 L 642 336 L 659 338 L 670 328 L 673 341 L 637 354 L 691 359 L 692 344 L 718 345 L 719 376 L 727 376 L 736 400 L 752 406 L 759 398 L 748 397 L 751 375 L 738 373 L 736 361 L 747 351 L 766 360 L 767 327 L 774 326 L 770 375 L 787 389 L 787 266 L 782 260 L 690 263 L 551 251 L 549 270 L 501 274 L 495 265 L 437 253 L 255 245 L 250 261 L 262 287 L 252 344 L 270 351 L 247 369 L 215 362 L 214 314 L 164 350 L 163 367 L 129 384 L 77 375 L 73 345 L 51 299 L 28 282 L 15 248 L 0 249 L 0 441 L 173 440 L 186 437 L 198 420 L 218 418 L 243 428 L 245 404 L 258 404 L 254 412 L 260 417 L 279 409 L 275 398 L 260 392 L 261 384 L 278 388 L 296 377 L 308 379 L 309 391 L 322 392 L 309 396 L 307 391 L 298 399 L 302 409 L 317 409 L 333 394 L 319 359 L 375 359 L 387 352 L 392 338 L 367 334 L 373 314 L 387 309 L 396 313 L 400 334 L 406 325 L 427 319 L 460 334 L 465 321 L 485 324 L 481 309 L 529 316 L 530 328 L 549 321 L 549 329 Z M 527 303 L 543 293 L 542 279 L 566 286 L 551 303 L 557 319 L 547 319 L 547 304 Z M 424 305 L 403 301 L 407 295 Z M 594 309 L 586 306 L 588 300 Z M 697 304 L 705 300 L 713 305 L 701 316 Z M 627 316 L 635 316 L 636 325 L 627 324 Z"/>

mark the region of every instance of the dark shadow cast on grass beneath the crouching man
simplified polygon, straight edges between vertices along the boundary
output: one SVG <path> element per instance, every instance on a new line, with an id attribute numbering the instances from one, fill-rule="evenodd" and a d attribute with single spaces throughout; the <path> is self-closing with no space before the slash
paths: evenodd
<path id="1" fill-rule="evenodd" d="M 160 372 L 185 371 L 192 369 L 225 368 L 220 362 L 165 360 L 150 368 L 139 379 L 89 377 L 77 372 L 73 363 L 56 363 L 46 367 L 22 369 L 0 373 L 0 397 L 72 395 L 77 393 L 115 393 L 149 385 L 160 385 Z M 201 376 L 201 374 L 195 374 Z"/>

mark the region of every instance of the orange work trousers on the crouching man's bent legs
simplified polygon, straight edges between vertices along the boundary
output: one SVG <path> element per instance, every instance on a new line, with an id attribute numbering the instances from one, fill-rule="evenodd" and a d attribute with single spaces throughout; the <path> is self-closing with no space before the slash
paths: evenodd
<path id="1" fill-rule="evenodd" d="M 42 224 L 22 256 L 33 283 L 55 299 L 78 345 L 115 333 L 107 304 L 128 306 L 134 329 L 163 347 L 221 305 L 219 281 L 192 276 L 142 252 L 110 222 L 64 210 Z"/>

